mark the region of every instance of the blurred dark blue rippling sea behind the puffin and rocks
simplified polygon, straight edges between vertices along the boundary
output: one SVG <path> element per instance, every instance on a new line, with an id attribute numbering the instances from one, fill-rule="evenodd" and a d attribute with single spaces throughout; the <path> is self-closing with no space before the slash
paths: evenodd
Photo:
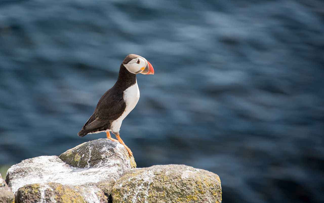
<path id="1" fill-rule="evenodd" d="M 323 202 L 324 2 L 0 2 L 0 168 L 59 155 L 130 53 L 138 167 L 217 173 L 223 202 Z"/>

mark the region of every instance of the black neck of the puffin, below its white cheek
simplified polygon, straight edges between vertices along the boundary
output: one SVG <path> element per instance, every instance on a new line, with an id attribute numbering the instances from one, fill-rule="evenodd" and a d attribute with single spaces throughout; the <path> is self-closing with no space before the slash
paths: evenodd
<path id="1" fill-rule="evenodd" d="M 129 72 L 123 64 L 119 69 L 119 75 L 115 87 L 121 89 L 122 91 L 126 90 L 128 87 L 132 86 L 136 82 L 136 74 Z"/>

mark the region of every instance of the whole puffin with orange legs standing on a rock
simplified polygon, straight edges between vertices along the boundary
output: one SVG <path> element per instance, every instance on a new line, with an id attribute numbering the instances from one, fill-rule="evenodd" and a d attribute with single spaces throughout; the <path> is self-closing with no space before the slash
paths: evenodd
<path id="1" fill-rule="evenodd" d="M 153 66 L 139 55 L 126 56 L 121 63 L 117 82 L 101 96 L 93 114 L 83 125 L 78 136 L 105 132 L 107 139 L 119 142 L 126 148 L 129 156 L 133 156 L 131 149 L 122 141 L 119 131 L 122 121 L 135 108 L 140 98 L 136 81 L 136 75 L 139 73 L 153 75 Z M 117 140 L 111 137 L 110 132 Z"/>

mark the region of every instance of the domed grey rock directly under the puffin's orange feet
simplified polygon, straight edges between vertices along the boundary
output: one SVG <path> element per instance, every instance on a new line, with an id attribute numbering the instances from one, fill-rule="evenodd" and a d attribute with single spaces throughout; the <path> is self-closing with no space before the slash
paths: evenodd
<path id="1" fill-rule="evenodd" d="M 129 161 L 136 168 L 134 158 L 130 158 L 124 146 L 108 139 L 98 139 L 82 143 L 59 156 L 65 163 L 78 168 L 100 167 L 116 164 L 116 160 Z M 122 164 L 120 164 L 123 167 Z M 123 169 L 127 170 L 128 168 Z"/>

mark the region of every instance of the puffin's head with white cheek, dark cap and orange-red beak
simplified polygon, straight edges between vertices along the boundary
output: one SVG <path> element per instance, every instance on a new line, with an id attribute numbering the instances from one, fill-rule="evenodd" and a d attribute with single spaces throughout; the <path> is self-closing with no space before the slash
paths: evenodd
<path id="1" fill-rule="evenodd" d="M 150 62 L 148 62 L 144 57 L 136 54 L 128 55 L 122 62 L 125 68 L 134 74 L 152 74 L 154 75 L 154 69 Z"/>

